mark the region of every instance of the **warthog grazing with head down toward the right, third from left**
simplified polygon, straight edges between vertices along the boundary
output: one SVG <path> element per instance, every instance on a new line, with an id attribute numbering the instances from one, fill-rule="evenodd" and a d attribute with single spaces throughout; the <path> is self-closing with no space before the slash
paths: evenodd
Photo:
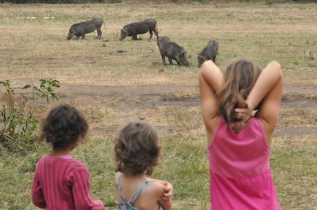
<path id="1" fill-rule="evenodd" d="M 178 65 L 190 65 L 187 61 L 187 53 L 184 48 L 174 41 L 171 41 L 167 36 L 160 36 L 159 39 L 157 39 L 157 45 L 159 46 L 164 65 L 167 65 L 165 56 L 167 56 L 170 65 L 173 65 L 172 59 L 175 60 Z"/>

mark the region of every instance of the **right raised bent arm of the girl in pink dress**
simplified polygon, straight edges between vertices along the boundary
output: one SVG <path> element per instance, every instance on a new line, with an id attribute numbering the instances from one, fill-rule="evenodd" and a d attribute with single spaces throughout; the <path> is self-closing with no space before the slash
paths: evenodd
<path id="1" fill-rule="evenodd" d="M 258 117 L 263 120 L 269 143 L 278 121 L 282 89 L 282 67 L 278 62 L 272 61 L 261 72 L 247 97 L 247 105 L 251 111 L 260 104 Z"/>

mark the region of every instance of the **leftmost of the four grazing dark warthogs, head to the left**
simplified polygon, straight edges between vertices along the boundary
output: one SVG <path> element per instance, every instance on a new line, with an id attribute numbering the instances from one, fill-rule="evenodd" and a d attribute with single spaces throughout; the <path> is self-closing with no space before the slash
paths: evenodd
<path id="1" fill-rule="evenodd" d="M 94 32 L 94 30 L 97 30 L 97 39 L 101 39 L 101 25 L 103 25 L 103 19 L 100 18 L 94 18 L 90 21 L 85 21 L 81 23 L 75 23 L 70 27 L 70 32 L 68 32 L 67 39 L 71 39 L 72 36 L 76 36 L 76 39 L 85 39 L 85 35 L 91 32 Z"/>

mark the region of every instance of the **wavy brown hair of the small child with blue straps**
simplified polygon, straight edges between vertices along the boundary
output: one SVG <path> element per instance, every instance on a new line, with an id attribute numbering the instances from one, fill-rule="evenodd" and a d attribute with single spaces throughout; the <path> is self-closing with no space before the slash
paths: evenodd
<path id="1" fill-rule="evenodd" d="M 130 122 L 115 136 L 116 171 L 151 175 L 159 164 L 161 147 L 155 129 L 148 123 Z"/>

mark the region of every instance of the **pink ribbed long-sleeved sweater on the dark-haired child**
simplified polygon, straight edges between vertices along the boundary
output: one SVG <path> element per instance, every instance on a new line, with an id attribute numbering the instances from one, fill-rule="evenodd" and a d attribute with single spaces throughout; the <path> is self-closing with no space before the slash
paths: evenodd
<path id="1" fill-rule="evenodd" d="M 103 210 L 90 196 L 87 167 L 71 156 L 43 156 L 37 162 L 32 202 L 46 210 Z"/>

